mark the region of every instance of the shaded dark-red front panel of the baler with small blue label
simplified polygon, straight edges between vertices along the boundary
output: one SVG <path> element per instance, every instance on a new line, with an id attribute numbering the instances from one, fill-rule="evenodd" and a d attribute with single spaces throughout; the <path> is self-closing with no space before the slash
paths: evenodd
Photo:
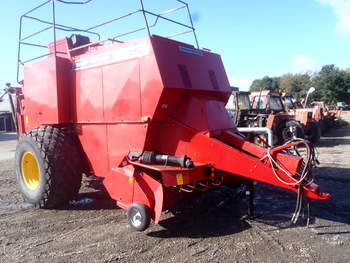
<path id="1" fill-rule="evenodd" d="M 164 85 L 154 120 L 169 115 L 162 112 L 167 108 L 197 131 L 235 128 L 224 107 L 230 85 L 220 56 L 160 37 L 152 43 Z M 177 97 L 173 89 L 181 90 Z"/>

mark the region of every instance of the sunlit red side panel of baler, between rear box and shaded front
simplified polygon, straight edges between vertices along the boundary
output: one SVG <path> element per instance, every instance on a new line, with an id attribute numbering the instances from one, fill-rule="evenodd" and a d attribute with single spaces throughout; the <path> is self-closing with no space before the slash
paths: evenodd
<path id="1" fill-rule="evenodd" d="M 105 177 L 128 151 L 143 150 L 147 132 L 143 111 L 154 98 L 149 93 L 159 96 L 159 73 L 149 39 L 97 45 L 73 60 L 74 123 L 88 131 L 79 134 L 82 146 L 94 173 Z"/>

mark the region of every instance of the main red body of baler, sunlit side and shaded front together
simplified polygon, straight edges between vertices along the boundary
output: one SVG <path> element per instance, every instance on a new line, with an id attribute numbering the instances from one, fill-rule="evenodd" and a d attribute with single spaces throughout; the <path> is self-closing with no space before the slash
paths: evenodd
<path id="1" fill-rule="evenodd" d="M 185 52 L 181 51 L 184 47 Z M 199 50 L 199 55 L 189 53 L 193 50 L 196 49 L 186 44 L 153 36 L 97 46 L 73 57 L 73 119 L 83 131 L 89 131 L 82 132 L 80 138 L 93 167 L 105 164 L 101 160 L 104 156 L 108 156 L 109 170 L 117 167 L 130 150 L 142 152 L 145 142 L 148 150 L 157 150 L 155 144 L 161 142 L 151 139 L 153 131 L 149 133 L 148 127 L 169 115 L 200 132 L 235 129 L 225 110 L 230 90 L 220 56 Z M 120 55 L 126 51 L 128 55 Z M 143 56 L 135 58 L 135 52 Z M 183 68 L 187 68 L 187 77 L 191 76 L 187 80 L 190 87 L 186 86 Z M 144 122 L 143 118 L 151 121 Z M 102 132 L 104 125 L 106 131 Z M 93 130 L 98 135 L 92 136 Z M 88 145 L 91 137 L 98 138 L 94 147 Z M 167 143 L 172 144 L 172 140 L 170 136 Z M 104 172 L 95 171 L 100 176 L 108 174 L 108 169 L 97 170 Z"/>

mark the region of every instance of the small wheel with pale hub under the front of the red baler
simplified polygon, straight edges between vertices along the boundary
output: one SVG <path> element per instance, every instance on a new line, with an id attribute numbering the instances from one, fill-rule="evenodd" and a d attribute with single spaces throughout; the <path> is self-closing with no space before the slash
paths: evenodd
<path id="1" fill-rule="evenodd" d="M 133 203 L 128 208 L 128 223 L 136 231 L 144 231 L 151 222 L 150 211 L 142 203 Z"/>

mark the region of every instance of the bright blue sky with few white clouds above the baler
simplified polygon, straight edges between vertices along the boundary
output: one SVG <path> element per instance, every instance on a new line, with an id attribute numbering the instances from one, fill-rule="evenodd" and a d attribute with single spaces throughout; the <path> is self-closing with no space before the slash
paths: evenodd
<path id="1" fill-rule="evenodd" d="M 0 89 L 6 82 L 16 84 L 19 18 L 42 2 L 1 1 Z M 134 10 L 138 5 L 137 0 L 93 2 L 94 7 L 86 13 L 81 6 L 75 6 L 74 11 L 58 8 L 60 23 L 73 21 L 86 28 L 93 22 L 106 20 L 105 17 L 108 19 L 123 14 L 123 11 Z M 350 68 L 350 0 L 187 2 L 199 46 L 221 55 L 230 83 L 242 90 L 249 89 L 254 79 L 266 75 L 317 71 L 326 64 Z M 146 9 L 156 13 L 163 7 L 178 6 L 174 0 L 145 0 L 146 3 Z M 49 10 L 43 10 L 38 15 L 46 18 L 48 14 Z M 179 15 L 181 19 L 184 17 L 184 14 Z M 119 27 L 135 28 L 139 22 L 130 20 L 125 22 L 127 25 Z M 30 23 L 26 26 L 29 33 L 37 28 Z M 113 27 L 114 30 L 116 25 Z M 166 25 L 160 25 L 160 28 L 163 32 L 172 29 Z"/>

